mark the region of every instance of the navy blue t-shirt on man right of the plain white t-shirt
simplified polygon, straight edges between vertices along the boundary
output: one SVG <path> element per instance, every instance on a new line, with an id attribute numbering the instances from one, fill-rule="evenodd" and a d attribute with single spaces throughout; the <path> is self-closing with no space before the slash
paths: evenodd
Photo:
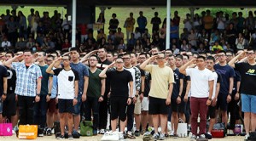
<path id="1" fill-rule="evenodd" d="M 222 76 L 219 93 L 228 94 L 230 91 L 230 77 L 235 77 L 235 71 L 230 65 L 214 65 L 214 70 Z"/>

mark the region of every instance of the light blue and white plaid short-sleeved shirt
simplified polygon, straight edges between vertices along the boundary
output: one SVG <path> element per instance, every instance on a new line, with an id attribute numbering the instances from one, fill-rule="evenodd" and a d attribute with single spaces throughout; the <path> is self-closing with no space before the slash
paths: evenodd
<path id="1" fill-rule="evenodd" d="M 12 67 L 17 73 L 15 93 L 21 96 L 35 97 L 37 79 L 42 77 L 39 66 L 32 64 L 26 69 L 24 63 L 14 62 Z"/>

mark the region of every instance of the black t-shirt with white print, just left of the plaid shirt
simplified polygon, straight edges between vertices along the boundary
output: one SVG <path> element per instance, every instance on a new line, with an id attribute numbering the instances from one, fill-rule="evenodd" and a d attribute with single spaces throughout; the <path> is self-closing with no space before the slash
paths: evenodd
<path id="1" fill-rule="evenodd" d="M 7 69 L 7 93 L 15 93 L 16 87 L 16 71 L 14 69 L 10 69 L 6 66 Z"/>

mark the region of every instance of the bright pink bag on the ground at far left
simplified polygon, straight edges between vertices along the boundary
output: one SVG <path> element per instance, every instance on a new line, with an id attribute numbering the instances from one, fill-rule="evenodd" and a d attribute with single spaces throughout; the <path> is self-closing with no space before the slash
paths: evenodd
<path id="1" fill-rule="evenodd" d="M 8 119 L 3 120 L 3 123 L 0 123 L 0 136 L 12 136 L 12 130 L 12 123 L 10 123 Z"/>

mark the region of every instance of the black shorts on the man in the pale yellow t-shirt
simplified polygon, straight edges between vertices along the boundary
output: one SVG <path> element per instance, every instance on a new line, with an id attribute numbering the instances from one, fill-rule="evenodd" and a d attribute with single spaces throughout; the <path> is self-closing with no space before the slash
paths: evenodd
<path id="1" fill-rule="evenodd" d="M 149 97 L 149 108 L 148 108 L 149 115 L 158 115 L 158 114 L 167 115 L 168 107 L 169 105 L 166 105 L 166 99 Z"/>

